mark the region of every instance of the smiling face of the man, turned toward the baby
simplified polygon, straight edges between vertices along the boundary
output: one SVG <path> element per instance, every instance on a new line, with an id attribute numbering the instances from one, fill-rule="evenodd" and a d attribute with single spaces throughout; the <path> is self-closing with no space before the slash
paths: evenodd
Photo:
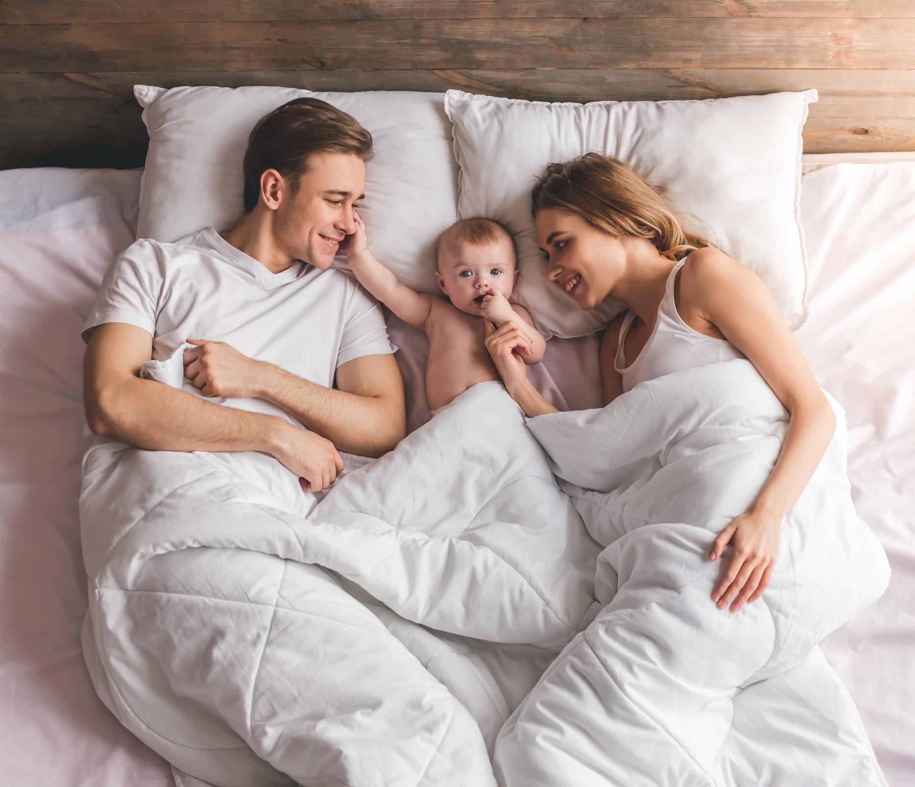
<path id="1" fill-rule="evenodd" d="M 339 244 L 355 232 L 352 211 L 365 197 L 365 164 L 348 153 L 317 153 L 299 178 L 298 190 L 285 190 L 274 221 L 275 241 L 297 260 L 329 268 Z"/>

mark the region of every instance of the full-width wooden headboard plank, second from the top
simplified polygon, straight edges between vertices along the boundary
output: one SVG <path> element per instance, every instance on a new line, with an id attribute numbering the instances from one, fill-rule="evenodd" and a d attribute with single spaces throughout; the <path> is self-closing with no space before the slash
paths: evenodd
<path id="1" fill-rule="evenodd" d="M 0 27 L 0 72 L 910 69 L 915 19 L 422 19 Z"/>

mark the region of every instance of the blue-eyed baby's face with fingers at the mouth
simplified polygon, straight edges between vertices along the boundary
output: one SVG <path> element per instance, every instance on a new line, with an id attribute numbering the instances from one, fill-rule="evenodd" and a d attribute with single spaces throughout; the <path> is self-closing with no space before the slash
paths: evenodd
<path id="1" fill-rule="evenodd" d="M 508 240 L 486 246 L 445 244 L 438 252 L 438 286 L 455 307 L 474 317 L 480 316 L 483 296 L 500 292 L 508 298 L 517 278 L 514 248 Z"/>

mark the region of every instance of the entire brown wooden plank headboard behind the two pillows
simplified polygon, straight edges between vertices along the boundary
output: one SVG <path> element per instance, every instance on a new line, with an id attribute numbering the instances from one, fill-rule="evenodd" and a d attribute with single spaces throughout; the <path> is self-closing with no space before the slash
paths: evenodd
<path id="1" fill-rule="evenodd" d="M 544 101 L 817 88 L 807 153 L 915 150 L 913 0 L 0 0 L 0 168 L 138 167 L 132 86 Z"/>

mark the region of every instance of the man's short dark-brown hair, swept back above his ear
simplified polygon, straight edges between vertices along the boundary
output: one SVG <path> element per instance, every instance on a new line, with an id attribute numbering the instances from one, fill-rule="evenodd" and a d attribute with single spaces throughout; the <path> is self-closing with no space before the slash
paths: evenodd
<path id="1" fill-rule="evenodd" d="M 293 191 L 316 153 L 349 153 L 371 159 L 371 134 L 351 115 L 320 99 L 300 98 L 267 113 L 253 127 L 244 153 L 244 211 L 261 195 L 261 176 L 275 169 Z"/>

